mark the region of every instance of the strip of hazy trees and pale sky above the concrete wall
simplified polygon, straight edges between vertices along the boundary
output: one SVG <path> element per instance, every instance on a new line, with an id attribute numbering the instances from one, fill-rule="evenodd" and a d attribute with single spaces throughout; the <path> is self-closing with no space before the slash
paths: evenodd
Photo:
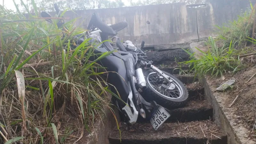
<path id="1" fill-rule="evenodd" d="M 28 3 L 20 2 L 17 6 L 22 10 L 28 9 L 34 12 L 31 0 L 27 0 Z M 24 4 L 22 4 L 24 3 Z M 85 9 L 100 9 L 100 8 L 115 8 L 124 6 L 139 6 L 139 5 L 152 5 L 152 4 L 171 4 L 171 3 L 186 3 L 186 4 L 204 4 L 205 0 L 138 0 L 136 2 L 130 1 L 128 4 L 124 3 L 124 0 L 36 0 L 37 7 L 44 9 L 45 11 L 54 11 L 52 5 L 57 3 L 60 10 L 71 9 L 71 10 L 85 10 Z M 3 1 L 4 5 L 6 4 Z"/>

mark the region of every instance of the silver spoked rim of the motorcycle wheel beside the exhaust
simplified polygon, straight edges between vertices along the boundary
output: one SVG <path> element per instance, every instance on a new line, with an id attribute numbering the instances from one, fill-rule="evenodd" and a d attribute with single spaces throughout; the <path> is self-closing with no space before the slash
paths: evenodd
<path id="1" fill-rule="evenodd" d="M 179 99 L 182 97 L 182 95 L 183 95 L 182 88 L 181 88 L 180 84 L 177 83 L 177 81 L 172 79 L 172 77 L 171 77 L 171 79 L 172 79 L 171 84 L 175 85 L 175 88 L 173 90 L 166 89 L 161 84 L 156 84 L 156 79 L 155 79 L 156 77 L 157 77 L 156 72 L 148 74 L 148 77 L 147 77 L 148 85 L 156 93 L 160 94 L 160 96 L 162 96 L 166 99 L 169 99 L 169 100 Z"/>

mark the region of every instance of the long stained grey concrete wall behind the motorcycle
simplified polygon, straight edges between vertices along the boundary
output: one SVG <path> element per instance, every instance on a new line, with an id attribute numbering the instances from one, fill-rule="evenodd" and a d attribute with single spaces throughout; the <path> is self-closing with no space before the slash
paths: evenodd
<path id="1" fill-rule="evenodd" d="M 249 2 L 249 1 L 248 1 Z M 180 44 L 212 35 L 215 24 L 222 24 L 237 18 L 241 9 L 250 4 L 247 0 L 209 0 L 205 7 L 190 8 L 185 3 L 158 4 L 110 9 L 81 10 L 66 12 L 66 18 L 78 18 L 76 26 L 87 28 L 93 12 L 102 21 L 114 24 L 122 20 L 128 27 L 119 31 L 125 40 L 134 39 L 146 45 Z M 150 24 L 147 24 L 147 21 Z M 198 33 L 197 33 L 198 27 Z M 198 34 L 198 35 L 197 35 Z"/>

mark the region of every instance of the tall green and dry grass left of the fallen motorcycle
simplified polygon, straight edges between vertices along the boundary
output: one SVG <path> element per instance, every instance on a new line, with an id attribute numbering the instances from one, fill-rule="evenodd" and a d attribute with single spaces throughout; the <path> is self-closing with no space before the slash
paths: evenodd
<path id="1" fill-rule="evenodd" d="M 97 61 L 111 52 L 89 61 L 96 44 L 87 39 L 75 49 L 70 46 L 70 39 L 83 32 L 73 27 L 75 20 L 65 24 L 70 34 L 65 33 L 57 28 L 58 19 L 52 24 L 39 19 L 40 9 L 34 1 L 32 5 L 35 15 L 28 12 L 27 18 L 17 6 L 13 12 L 0 5 L 1 131 L 7 132 L 8 142 L 74 142 L 85 130 L 91 132 L 94 121 L 109 108 L 108 93 L 114 93 L 108 90 L 101 76 L 107 73 Z M 24 77 L 24 103 L 18 97 L 15 71 Z M 72 129 L 66 132 L 67 127 Z"/>

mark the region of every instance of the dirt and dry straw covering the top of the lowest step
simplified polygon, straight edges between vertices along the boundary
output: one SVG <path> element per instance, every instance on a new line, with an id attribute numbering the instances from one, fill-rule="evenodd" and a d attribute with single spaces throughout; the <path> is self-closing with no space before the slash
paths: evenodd
<path id="1" fill-rule="evenodd" d="M 138 123 L 133 124 L 129 130 L 125 127 L 120 127 L 123 138 L 129 138 L 134 133 L 152 132 L 156 133 L 155 129 L 150 123 Z M 218 126 L 211 120 L 195 121 L 188 123 L 164 123 L 157 131 L 159 138 L 171 135 L 173 137 L 221 137 L 223 133 L 219 130 Z M 112 133 L 112 136 L 119 136 L 119 131 L 116 130 Z"/>

